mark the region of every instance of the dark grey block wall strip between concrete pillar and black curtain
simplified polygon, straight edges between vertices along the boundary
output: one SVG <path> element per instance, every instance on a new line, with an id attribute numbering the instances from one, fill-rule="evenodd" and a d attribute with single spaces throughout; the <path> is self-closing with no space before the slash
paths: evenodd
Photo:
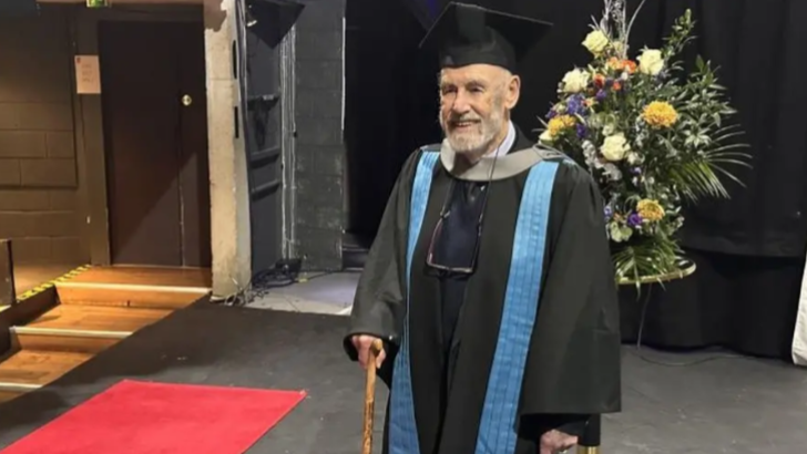
<path id="1" fill-rule="evenodd" d="M 298 255 L 341 267 L 345 0 L 307 0 L 296 25 L 295 178 Z"/>

